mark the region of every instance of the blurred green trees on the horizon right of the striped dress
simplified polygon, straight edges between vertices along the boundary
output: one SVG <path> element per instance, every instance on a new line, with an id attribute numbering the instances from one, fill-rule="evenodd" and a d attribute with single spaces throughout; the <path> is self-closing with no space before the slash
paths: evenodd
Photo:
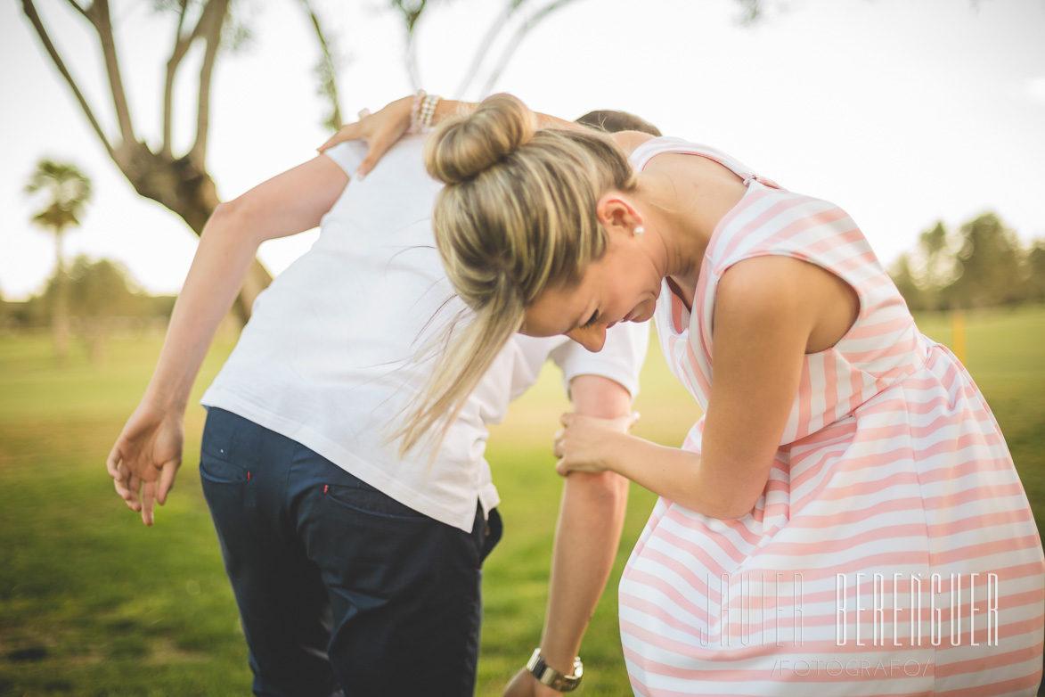
<path id="1" fill-rule="evenodd" d="M 889 273 L 913 310 L 1042 301 L 1045 239 L 1024 248 L 995 213 L 984 213 L 956 232 L 937 223 Z"/>

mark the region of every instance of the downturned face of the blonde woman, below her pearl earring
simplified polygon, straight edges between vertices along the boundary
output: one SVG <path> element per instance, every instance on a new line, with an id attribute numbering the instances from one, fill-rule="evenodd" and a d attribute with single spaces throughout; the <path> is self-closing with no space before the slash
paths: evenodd
<path id="1" fill-rule="evenodd" d="M 521 332 L 531 336 L 565 334 L 589 351 L 606 342 L 618 322 L 653 317 L 660 275 L 636 241 L 611 237 L 601 259 L 588 264 L 580 283 L 545 289 L 527 309 Z"/>

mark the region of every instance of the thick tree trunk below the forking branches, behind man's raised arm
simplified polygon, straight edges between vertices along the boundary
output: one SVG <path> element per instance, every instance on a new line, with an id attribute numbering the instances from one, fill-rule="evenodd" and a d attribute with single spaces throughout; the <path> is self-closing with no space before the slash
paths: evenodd
<path id="1" fill-rule="evenodd" d="M 219 203 L 214 181 L 203 167 L 189 157 L 153 153 L 144 143 L 121 145 L 114 159 L 138 193 L 181 215 L 198 235 L 203 233 Z M 240 322 L 250 319 L 254 300 L 271 282 L 272 276 L 255 259 L 233 306 Z"/>

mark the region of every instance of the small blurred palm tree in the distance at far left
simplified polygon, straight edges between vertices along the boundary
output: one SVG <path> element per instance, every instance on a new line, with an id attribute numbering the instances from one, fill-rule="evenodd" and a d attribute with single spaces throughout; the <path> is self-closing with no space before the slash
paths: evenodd
<path id="1" fill-rule="evenodd" d="M 69 350 L 69 298 L 62 240 L 67 229 L 78 226 L 84 204 L 91 199 L 91 180 L 76 165 L 43 159 L 29 177 L 25 192 L 46 191 L 48 199 L 32 222 L 54 234 L 54 355 L 65 361 Z"/>

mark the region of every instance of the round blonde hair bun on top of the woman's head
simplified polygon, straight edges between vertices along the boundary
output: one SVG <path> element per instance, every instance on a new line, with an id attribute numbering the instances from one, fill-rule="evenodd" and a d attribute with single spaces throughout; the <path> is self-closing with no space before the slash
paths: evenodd
<path id="1" fill-rule="evenodd" d="M 536 122 L 510 94 L 484 99 L 471 114 L 446 121 L 428 141 L 424 165 L 444 184 L 461 184 L 517 150 L 533 138 Z"/>

